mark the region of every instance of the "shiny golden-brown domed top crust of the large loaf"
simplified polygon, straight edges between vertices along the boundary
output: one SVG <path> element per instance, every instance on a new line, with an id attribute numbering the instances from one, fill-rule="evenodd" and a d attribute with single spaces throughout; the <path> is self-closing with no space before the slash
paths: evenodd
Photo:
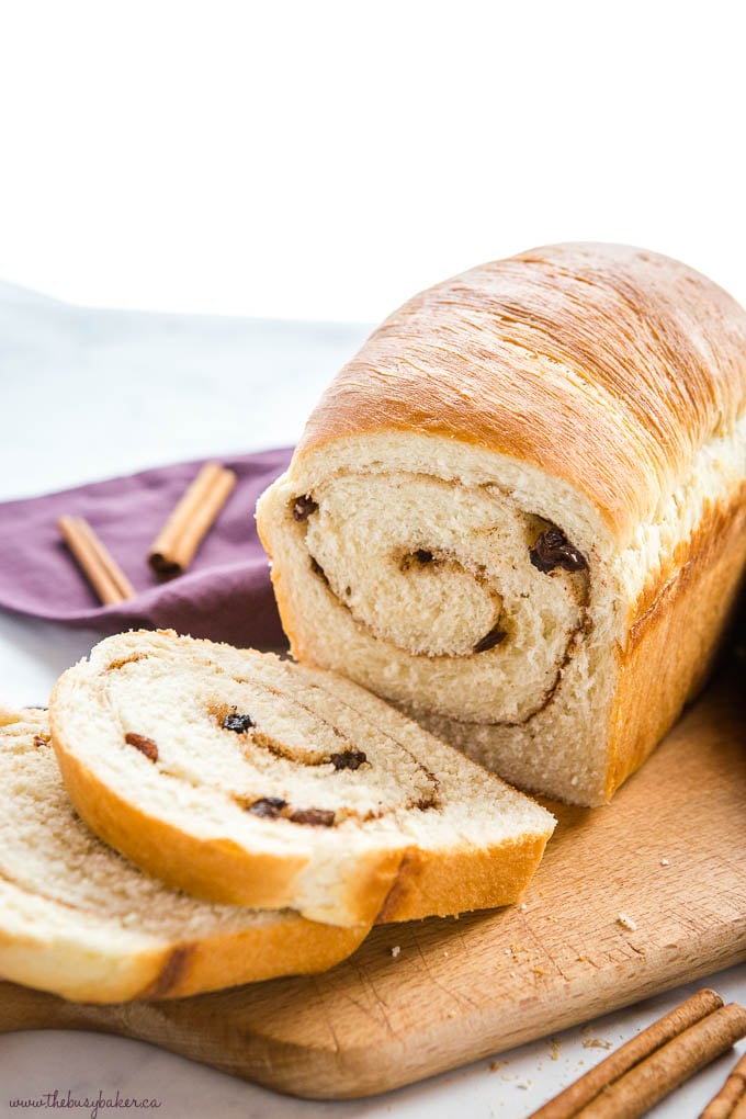
<path id="1" fill-rule="evenodd" d="M 620 542 L 746 399 L 746 313 L 654 253 L 553 245 L 472 269 L 391 314 L 312 413 L 304 454 L 418 429 L 582 490 Z"/>

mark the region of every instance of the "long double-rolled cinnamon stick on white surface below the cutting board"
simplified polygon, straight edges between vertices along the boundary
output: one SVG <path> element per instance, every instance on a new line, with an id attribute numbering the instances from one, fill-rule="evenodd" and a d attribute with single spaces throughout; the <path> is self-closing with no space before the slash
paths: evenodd
<path id="1" fill-rule="evenodd" d="M 700 990 L 556 1096 L 531 1119 L 634 1119 L 746 1036 L 746 1010 Z"/>

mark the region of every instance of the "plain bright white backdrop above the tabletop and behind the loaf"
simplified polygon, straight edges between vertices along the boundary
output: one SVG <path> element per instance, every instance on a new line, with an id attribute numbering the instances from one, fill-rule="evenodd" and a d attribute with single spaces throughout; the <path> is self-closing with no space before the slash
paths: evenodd
<path id="1" fill-rule="evenodd" d="M 375 322 L 594 238 L 746 302 L 735 0 L 6 0 L 0 278 Z"/>

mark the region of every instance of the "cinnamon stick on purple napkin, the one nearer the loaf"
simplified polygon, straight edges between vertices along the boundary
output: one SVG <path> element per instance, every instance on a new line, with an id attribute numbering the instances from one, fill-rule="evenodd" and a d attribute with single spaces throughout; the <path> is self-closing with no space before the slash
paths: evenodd
<path id="1" fill-rule="evenodd" d="M 187 570 L 235 485 L 233 470 L 219 462 L 205 463 L 150 549 L 154 572 L 180 575 Z"/>

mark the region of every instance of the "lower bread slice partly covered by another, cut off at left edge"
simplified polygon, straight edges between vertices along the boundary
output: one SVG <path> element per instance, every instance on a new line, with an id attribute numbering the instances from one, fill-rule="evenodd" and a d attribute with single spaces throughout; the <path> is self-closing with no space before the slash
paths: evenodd
<path id="1" fill-rule="evenodd" d="M 321 971 L 365 927 L 210 905 L 103 844 L 75 815 L 44 711 L 0 709 L 0 976 L 91 1003 L 171 998 Z"/>

